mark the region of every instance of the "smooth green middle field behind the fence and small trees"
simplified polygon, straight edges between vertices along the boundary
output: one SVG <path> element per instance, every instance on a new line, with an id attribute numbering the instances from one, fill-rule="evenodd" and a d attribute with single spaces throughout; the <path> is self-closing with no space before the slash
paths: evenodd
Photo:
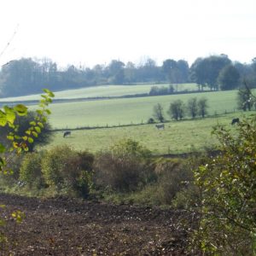
<path id="1" fill-rule="evenodd" d="M 236 108 L 236 93 L 236 90 L 232 90 L 172 96 L 55 103 L 50 106 L 52 115 L 49 120 L 54 129 L 140 124 L 142 122 L 146 123 L 148 118 L 152 117 L 155 104 L 162 104 L 166 119 L 170 119 L 166 111 L 171 102 L 181 99 L 186 103 L 189 98 L 194 96 L 198 98 L 207 97 L 210 115 L 225 112 L 232 113 Z"/>

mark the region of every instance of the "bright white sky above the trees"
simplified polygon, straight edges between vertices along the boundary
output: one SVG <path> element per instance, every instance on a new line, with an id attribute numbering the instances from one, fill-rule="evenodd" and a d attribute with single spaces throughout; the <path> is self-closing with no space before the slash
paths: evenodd
<path id="1" fill-rule="evenodd" d="M 0 66 L 22 57 L 59 67 L 148 57 L 256 57 L 255 0 L 0 0 Z"/>

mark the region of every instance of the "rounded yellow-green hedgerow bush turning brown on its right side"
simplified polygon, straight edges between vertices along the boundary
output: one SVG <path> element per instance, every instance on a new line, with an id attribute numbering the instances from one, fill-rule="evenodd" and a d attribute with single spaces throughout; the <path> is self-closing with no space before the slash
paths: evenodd
<path id="1" fill-rule="evenodd" d="M 45 182 L 58 192 L 74 192 L 87 197 L 90 193 L 93 155 L 78 153 L 68 146 L 50 149 L 42 161 Z"/>

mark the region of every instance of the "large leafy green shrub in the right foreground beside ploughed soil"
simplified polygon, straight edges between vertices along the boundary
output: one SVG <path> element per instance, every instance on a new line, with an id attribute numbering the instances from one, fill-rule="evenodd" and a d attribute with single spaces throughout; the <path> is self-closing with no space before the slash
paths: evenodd
<path id="1" fill-rule="evenodd" d="M 206 253 L 256 253 L 256 118 L 217 127 L 221 154 L 195 170 L 201 191 L 194 242 Z"/>

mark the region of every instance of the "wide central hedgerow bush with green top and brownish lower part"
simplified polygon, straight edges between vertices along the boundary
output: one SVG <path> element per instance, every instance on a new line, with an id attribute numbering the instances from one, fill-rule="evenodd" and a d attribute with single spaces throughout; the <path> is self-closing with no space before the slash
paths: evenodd
<path id="1" fill-rule="evenodd" d="M 119 192 L 140 189 L 154 179 L 151 153 L 139 143 L 126 139 L 108 152 L 97 155 L 96 184 Z"/>

